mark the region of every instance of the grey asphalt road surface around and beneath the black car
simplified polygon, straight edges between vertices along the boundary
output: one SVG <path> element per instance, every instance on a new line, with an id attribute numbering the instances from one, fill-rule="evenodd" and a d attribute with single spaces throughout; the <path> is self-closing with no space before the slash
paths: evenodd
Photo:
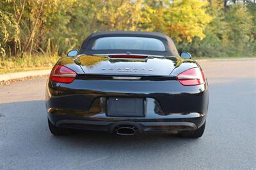
<path id="1" fill-rule="evenodd" d="M 0 87 L 0 169 L 256 169 L 256 59 L 200 61 L 210 86 L 205 134 L 55 137 L 46 77 Z"/>

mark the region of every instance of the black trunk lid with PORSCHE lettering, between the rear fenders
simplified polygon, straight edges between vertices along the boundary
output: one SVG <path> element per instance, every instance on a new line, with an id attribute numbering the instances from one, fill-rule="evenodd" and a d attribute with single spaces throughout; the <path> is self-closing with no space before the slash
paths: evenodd
<path id="1" fill-rule="evenodd" d="M 169 76 L 180 63 L 175 57 L 109 58 L 86 56 L 76 58 L 85 74 Z"/>

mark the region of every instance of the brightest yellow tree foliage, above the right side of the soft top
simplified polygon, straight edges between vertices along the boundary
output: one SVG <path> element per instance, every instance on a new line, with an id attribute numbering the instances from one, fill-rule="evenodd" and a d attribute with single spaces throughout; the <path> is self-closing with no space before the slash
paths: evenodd
<path id="1" fill-rule="evenodd" d="M 180 0 L 164 1 L 152 13 L 154 30 L 163 31 L 177 41 L 191 42 L 195 36 L 204 38 L 204 29 L 212 17 L 205 13 L 207 1 Z M 148 7 L 147 7 L 148 8 Z"/>

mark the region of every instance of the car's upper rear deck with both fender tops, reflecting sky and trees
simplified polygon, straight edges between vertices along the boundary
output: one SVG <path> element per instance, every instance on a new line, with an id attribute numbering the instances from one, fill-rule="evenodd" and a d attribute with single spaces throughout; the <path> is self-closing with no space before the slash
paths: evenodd
<path id="1" fill-rule="evenodd" d="M 176 77 L 189 68 L 199 67 L 192 59 L 173 56 L 148 56 L 147 59 L 111 59 L 105 56 L 79 55 L 77 58 L 62 58 L 57 62 L 78 74 L 96 75 L 157 75 Z"/>

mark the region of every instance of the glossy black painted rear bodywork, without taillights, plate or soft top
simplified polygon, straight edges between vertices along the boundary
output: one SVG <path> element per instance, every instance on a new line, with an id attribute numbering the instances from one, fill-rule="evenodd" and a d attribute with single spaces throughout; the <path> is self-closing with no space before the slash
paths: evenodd
<path id="1" fill-rule="evenodd" d="M 47 81 L 47 112 L 49 120 L 58 127 L 111 132 L 115 123 L 135 122 L 141 132 L 146 132 L 195 130 L 205 122 L 209 102 L 207 81 L 197 86 L 182 86 L 176 78 L 189 68 L 200 68 L 192 59 L 173 56 L 110 59 L 107 55 L 79 55 L 61 58 L 57 64 L 78 74 L 70 84 Z M 113 80 L 113 75 L 141 79 Z M 145 117 L 107 116 L 108 97 L 145 98 Z"/>

